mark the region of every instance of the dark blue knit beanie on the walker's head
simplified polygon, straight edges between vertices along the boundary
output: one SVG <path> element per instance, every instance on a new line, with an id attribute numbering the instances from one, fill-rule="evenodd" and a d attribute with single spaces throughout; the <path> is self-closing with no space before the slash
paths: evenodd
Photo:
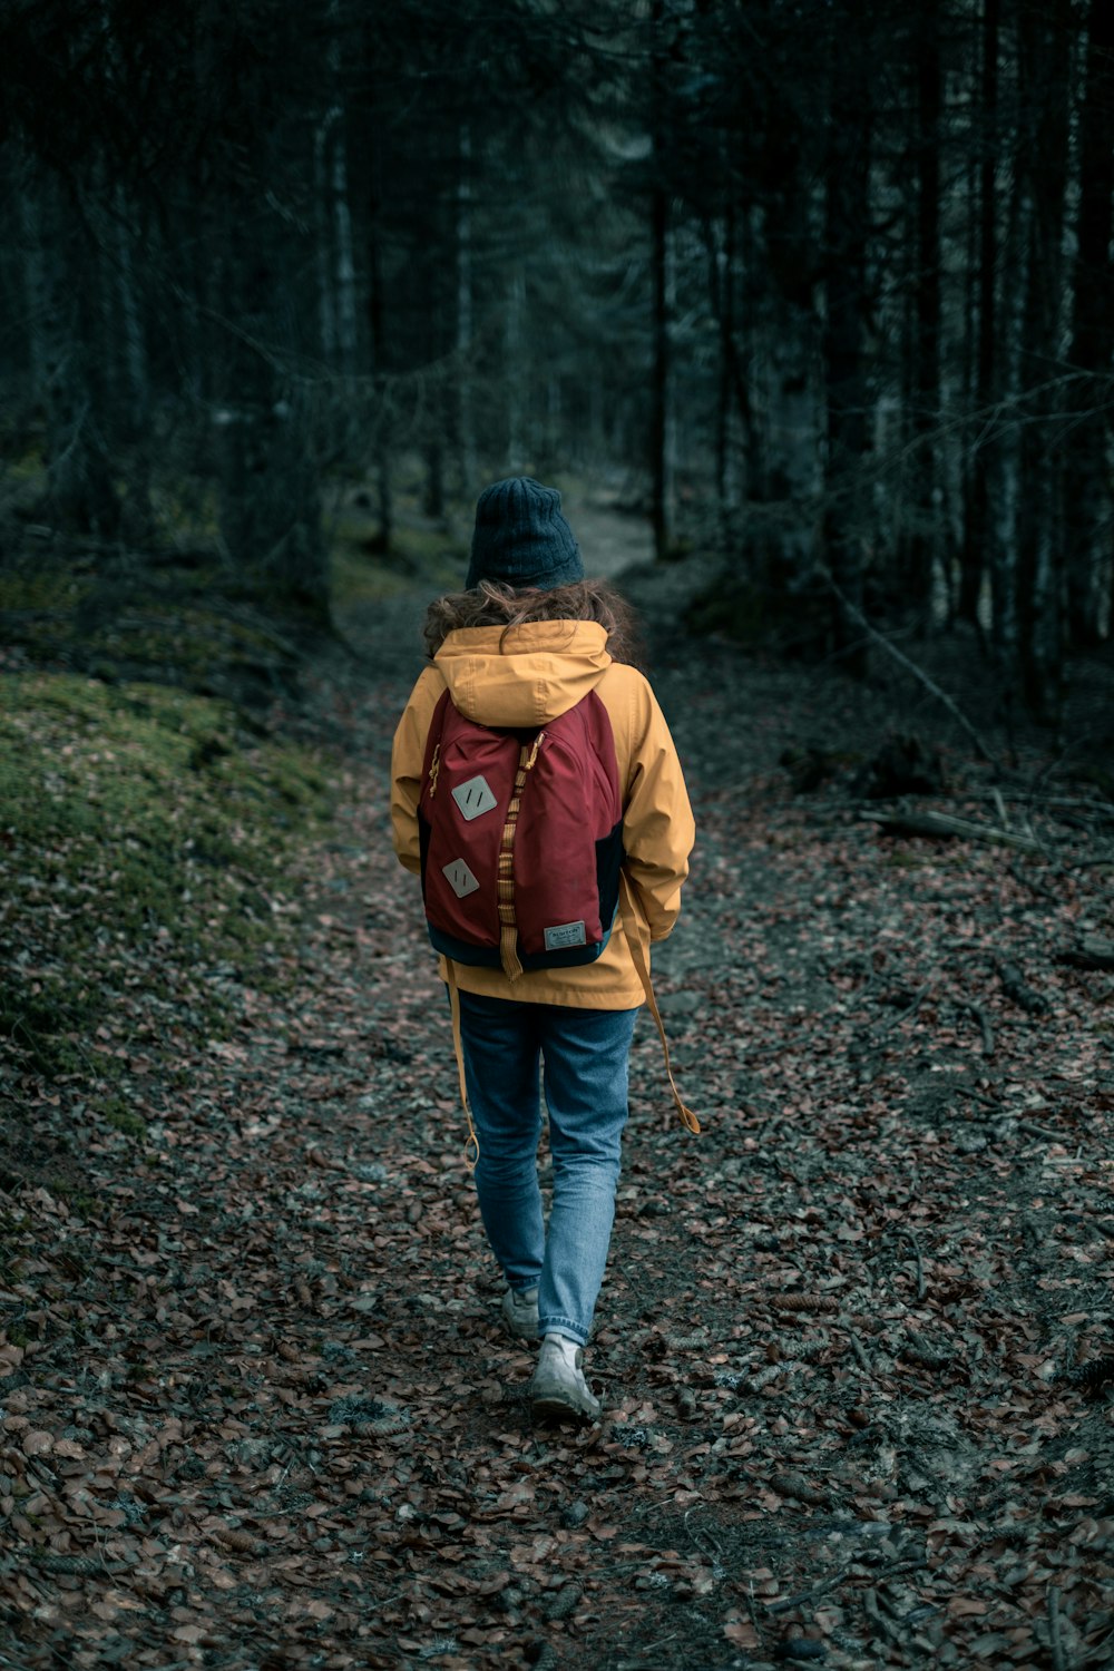
<path id="1" fill-rule="evenodd" d="M 464 585 L 570 587 L 585 578 L 573 530 L 561 516 L 561 495 L 531 476 L 493 481 L 476 503 L 473 558 Z"/>

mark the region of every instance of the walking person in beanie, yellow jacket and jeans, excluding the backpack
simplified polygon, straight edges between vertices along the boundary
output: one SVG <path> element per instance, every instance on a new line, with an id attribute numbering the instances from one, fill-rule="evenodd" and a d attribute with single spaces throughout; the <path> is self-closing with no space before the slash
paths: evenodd
<path id="1" fill-rule="evenodd" d="M 441 964 L 478 1148 L 479 1213 L 506 1280 L 503 1320 L 516 1338 L 541 1338 L 528 1389 L 534 1419 L 578 1422 L 600 1414 L 583 1348 L 615 1216 L 628 1056 L 638 1009 L 646 999 L 653 1004 L 650 942 L 676 922 L 695 841 L 676 749 L 648 680 L 626 660 L 628 635 L 623 602 L 585 580 L 560 493 L 529 476 L 496 481 L 476 506 L 466 590 L 428 610 L 429 667 L 392 749 L 394 851 L 421 874 L 423 782 L 429 789 L 433 779 L 436 789 L 438 774 L 438 749 L 431 755 L 428 745 L 446 692 L 466 724 L 524 744 L 534 739 L 533 754 L 544 727 L 595 692 L 615 739 L 620 904 L 595 961 L 570 964 L 558 954 L 556 966 L 538 968 L 538 959 L 519 957 L 514 906 L 503 904 L 498 966 L 456 956 Z M 523 747 L 523 762 L 528 752 Z M 488 787 L 483 777 L 473 782 Z M 476 879 L 463 874 L 459 886 L 468 891 Z M 580 932 L 581 924 L 566 927 Z M 560 944 L 566 939 L 558 936 Z M 548 1228 L 538 1181 L 539 1068 L 553 1161 Z M 698 1130 L 680 1098 L 678 1108 Z"/>

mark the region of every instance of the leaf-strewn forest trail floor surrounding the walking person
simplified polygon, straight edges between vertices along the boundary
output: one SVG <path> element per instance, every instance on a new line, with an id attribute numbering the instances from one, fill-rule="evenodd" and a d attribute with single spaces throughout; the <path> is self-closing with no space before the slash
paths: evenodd
<path id="1" fill-rule="evenodd" d="M 180 1064 L 104 1228 L 30 1201 L 85 1332 L 3 1400 L 18 1671 L 1109 1661 L 1114 1071 L 1056 961 L 1096 872 L 884 841 L 847 765 L 795 795 L 783 749 L 870 750 L 894 692 L 688 640 L 673 568 L 625 587 L 698 820 L 655 973 L 705 1131 L 640 1024 L 603 1422 L 531 1430 L 499 1327 L 389 844 L 403 593 L 316 690 L 341 815 L 291 877 L 284 996 Z"/>

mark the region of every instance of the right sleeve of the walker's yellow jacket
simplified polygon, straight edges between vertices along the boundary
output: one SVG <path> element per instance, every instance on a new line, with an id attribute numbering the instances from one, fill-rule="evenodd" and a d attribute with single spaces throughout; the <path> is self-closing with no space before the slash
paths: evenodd
<path id="1" fill-rule="evenodd" d="M 696 827 L 670 727 L 645 680 L 633 714 L 628 794 L 623 812 L 626 874 L 650 926 L 665 939 L 681 909 Z"/>

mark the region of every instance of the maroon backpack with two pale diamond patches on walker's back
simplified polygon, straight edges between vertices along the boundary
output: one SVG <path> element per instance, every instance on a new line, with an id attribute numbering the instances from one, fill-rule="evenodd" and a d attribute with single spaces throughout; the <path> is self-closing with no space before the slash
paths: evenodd
<path id="1" fill-rule="evenodd" d="M 595 692 L 541 729 L 494 730 L 446 690 L 418 825 L 429 939 L 446 957 L 514 981 L 600 956 L 618 906 L 623 800 Z"/>

